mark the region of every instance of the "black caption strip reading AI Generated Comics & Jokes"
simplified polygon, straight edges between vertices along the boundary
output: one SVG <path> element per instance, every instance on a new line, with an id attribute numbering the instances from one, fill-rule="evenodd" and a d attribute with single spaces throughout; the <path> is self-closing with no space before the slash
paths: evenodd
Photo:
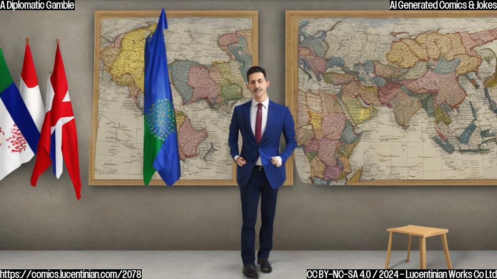
<path id="1" fill-rule="evenodd" d="M 390 10 L 495 10 L 497 0 L 390 0 Z"/>

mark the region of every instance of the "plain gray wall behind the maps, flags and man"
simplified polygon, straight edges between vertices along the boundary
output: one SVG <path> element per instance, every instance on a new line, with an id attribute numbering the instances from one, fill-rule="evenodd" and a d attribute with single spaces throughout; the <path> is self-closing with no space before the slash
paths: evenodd
<path id="1" fill-rule="evenodd" d="M 83 190 L 77 201 L 65 171 L 47 171 L 33 188 L 34 160 L 0 181 L 1 250 L 238 250 L 241 206 L 236 186 L 88 186 L 95 10 L 259 11 L 259 65 L 271 99 L 285 100 L 285 10 L 388 9 L 387 0 L 76 1 L 75 11 L 0 11 L 0 44 L 16 83 L 24 38 L 31 38 L 41 91 L 53 68 L 55 39 L 68 75 L 80 148 Z M 1 159 L 1 158 L 0 158 Z M 53 190 L 53 194 L 52 194 Z M 325 187 L 302 183 L 279 190 L 275 250 L 385 250 L 386 228 L 448 228 L 452 250 L 497 250 L 496 198 L 491 187 Z M 257 224 L 257 226 L 259 223 Z M 413 240 L 417 247 L 417 238 Z M 428 249 L 441 249 L 429 238 Z M 407 236 L 394 237 L 406 249 Z"/>

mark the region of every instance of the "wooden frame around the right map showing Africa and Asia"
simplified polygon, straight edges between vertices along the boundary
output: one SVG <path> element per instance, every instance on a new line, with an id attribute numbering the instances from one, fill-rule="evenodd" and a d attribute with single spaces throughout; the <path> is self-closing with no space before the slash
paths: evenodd
<path id="1" fill-rule="evenodd" d="M 297 120 L 298 96 L 298 27 L 301 18 L 326 17 L 363 17 L 363 18 L 465 18 L 497 17 L 497 11 L 385 11 L 385 10 L 287 10 L 286 11 L 286 105 Z M 295 121 L 297 125 L 297 121 Z M 347 182 L 346 185 L 363 186 L 491 186 L 497 185 L 497 179 L 459 179 L 459 180 L 374 180 L 364 182 Z"/>

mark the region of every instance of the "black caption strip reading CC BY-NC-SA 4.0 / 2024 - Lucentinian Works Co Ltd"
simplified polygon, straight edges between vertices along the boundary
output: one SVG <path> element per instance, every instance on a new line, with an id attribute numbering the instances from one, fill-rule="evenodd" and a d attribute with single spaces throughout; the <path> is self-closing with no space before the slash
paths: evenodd
<path id="1" fill-rule="evenodd" d="M 307 279 L 497 279 L 497 270 L 308 269 Z"/>

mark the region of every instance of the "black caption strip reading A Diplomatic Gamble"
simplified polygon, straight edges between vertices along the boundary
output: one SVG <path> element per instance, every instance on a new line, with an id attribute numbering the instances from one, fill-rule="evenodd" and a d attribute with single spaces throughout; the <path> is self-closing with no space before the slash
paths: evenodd
<path id="1" fill-rule="evenodd" d="M 74 10 L 75 0 L 0 0 L 0 10 Z"/>

